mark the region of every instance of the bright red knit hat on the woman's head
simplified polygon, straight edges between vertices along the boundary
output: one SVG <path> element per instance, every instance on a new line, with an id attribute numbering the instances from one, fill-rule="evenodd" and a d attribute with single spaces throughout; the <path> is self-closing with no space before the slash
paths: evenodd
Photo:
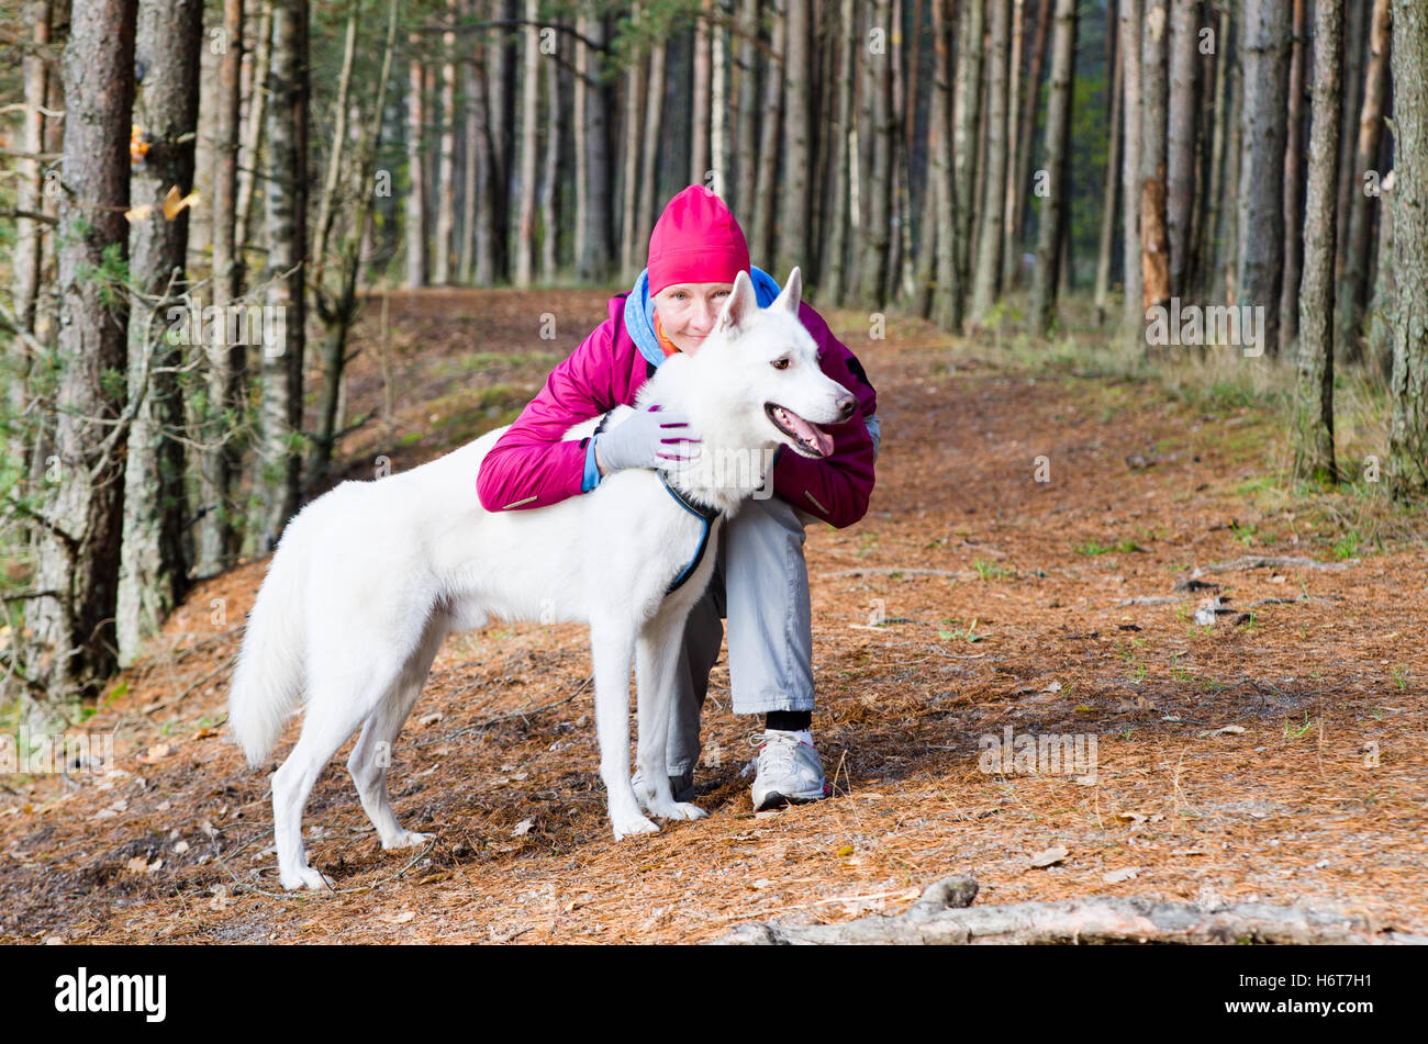
<path id="1" fill-rule="evenodd" d="M 675 282 L 733 282 L 748 271 L 744 230 L 704 185 L 670 200 L 650 234 L 650 297 Z"/>

